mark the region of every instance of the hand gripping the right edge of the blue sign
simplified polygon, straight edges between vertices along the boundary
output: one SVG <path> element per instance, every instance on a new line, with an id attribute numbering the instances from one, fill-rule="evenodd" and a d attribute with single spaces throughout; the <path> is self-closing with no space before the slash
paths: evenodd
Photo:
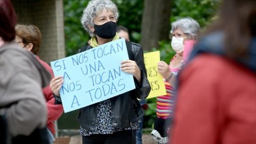
<path id="1" fill-rule="evenodd" d="M 138 67 L 137 63 L 133 60 L 123 60 L 120 66 L 121 70 L 132 74 L 140 83 L 140 68 Z"/>

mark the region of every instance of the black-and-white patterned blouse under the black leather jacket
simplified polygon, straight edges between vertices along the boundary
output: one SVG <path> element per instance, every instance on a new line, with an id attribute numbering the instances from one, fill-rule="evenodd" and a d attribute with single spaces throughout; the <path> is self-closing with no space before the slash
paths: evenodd
<path id="1" fill-rule="evenodd" d="M 132 127 L 115 127 L 112 125 L 112 111 L 110 100 L 101 101 L 98 104 L 96 124 L 92 131 L 80 126 L 80 134 L 89 136 L 92 134 L 112 134 L 124 130 L 139 130 L 139 122 L 132 124 Z"/>

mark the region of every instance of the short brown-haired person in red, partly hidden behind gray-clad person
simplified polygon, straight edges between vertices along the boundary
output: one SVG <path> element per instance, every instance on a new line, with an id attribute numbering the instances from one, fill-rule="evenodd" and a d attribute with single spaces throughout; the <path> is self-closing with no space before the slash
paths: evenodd
<path id="1" fill-rule="evenodd" d="M 53 78 L 54 74 L 52 68 L 38 57 L 42 37 L 39 28 L 34 25 L 16 25 L 15 31 L 15 41 L 19 43 L 23 49 L 32 52 L 36 59 L 44 66 L 44 68 L 51 73 Z M 54 121 L 56 121 L 63 113 L 63 107 L 62 105 L 54 105 L 55 99 L 49 85 L 43 88 L 43 93 L 47 106 L 47 136 L 49 138 L 49 143 L 52 144 L 55 134 Z"/>

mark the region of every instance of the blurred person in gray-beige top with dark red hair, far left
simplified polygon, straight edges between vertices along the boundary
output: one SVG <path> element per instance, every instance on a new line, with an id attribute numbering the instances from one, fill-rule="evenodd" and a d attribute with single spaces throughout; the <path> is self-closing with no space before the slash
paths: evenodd
<path id="1" fill-rule="evenodd" d="M 0 0 L 0 143 L 46 144 L 42 87 L 51 75 L 14 41 L 15 24 L 11 2 Z"/>

